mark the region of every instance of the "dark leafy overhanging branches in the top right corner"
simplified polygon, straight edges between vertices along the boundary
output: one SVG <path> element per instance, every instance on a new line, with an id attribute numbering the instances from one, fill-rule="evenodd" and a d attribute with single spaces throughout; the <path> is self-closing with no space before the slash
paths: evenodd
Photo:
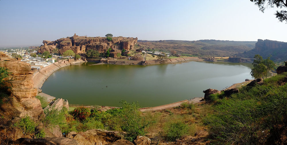
<path id="1" fill-rule="evenodd" d="M 250 0 L 255 3 L 259 7 L 259 10 L 264 12 L 267 7 L 277 7 L 281 11 L 276 11 L 276 18 L 279 19 L 280 22 L 286 21 L 287 23 L 287 11 L 284 10 L 287 8 L 287 0 Z M 283 9 L 283 10 L 282 10 Z"/>

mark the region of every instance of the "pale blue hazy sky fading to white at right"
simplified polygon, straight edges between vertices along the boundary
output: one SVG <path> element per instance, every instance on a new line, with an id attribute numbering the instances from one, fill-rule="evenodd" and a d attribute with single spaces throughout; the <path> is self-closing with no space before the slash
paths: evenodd
<path id="1" fill-rule="evenodd" d="M 40 45 L 79 36 L 139 40 L 269 39 L 286 42 L 287 24 L 249 0 L 0 0 L 0 46 Z"/>

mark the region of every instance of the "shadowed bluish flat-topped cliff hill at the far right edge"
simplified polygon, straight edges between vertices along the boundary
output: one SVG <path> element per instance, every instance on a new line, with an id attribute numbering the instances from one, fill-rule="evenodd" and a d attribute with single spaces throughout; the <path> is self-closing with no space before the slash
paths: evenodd
<path id="1" fill-rule="evenodd" d="M 254 49 L 244 52 L 242 54 L 238 54 L 238 56 L 253 58 L 254 55 L 259 54 L 263 58 L 266 58 L 271 55 L 272 60 L 281 62 L 287 60 L 286 53 L 287 53 L 286 42 L 258 39 Z"/>

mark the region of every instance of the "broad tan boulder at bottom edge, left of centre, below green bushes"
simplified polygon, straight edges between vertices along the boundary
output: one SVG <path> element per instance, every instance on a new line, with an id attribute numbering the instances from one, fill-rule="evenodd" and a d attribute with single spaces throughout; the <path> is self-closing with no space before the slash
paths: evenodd
<path id="1" fill-rule="evenodd" d="M 86 132 L 70 132 L 67 138 L 73 138 L 79 145 L 109 144 L 121 139 L 119 132 L 91 129 Z"/>

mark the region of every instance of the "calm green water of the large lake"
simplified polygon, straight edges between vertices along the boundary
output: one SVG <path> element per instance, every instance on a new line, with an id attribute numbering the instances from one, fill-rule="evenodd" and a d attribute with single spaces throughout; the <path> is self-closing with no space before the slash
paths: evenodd
<path id="1" fill-rule="evenodd" d="M 71 104 L 119 106 L 121 100 L 153 107 L 204 96 L 252 79 L 250 63 L 195 62 L 161 65 L 92 65 L 61 68 L 44 82 L 42 92 Z M 107 87 L 106 87 L 107 86 Z"/>

